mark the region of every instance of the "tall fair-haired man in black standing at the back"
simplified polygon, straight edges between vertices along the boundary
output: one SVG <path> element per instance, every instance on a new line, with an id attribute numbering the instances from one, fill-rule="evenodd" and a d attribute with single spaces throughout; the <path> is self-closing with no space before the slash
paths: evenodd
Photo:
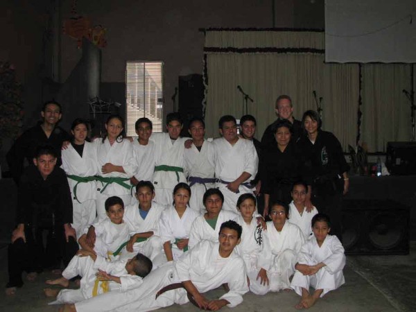
<path id="1" fill-rule="evenodd" d="M 302 135 L 302 123 L 297 119 L 293 118 L 293 105 L 290 96 L 281 95 L 276 99 L 275 112 L 277 119 L 272 124 L 268 125 L 264 130 L 263 137 L 261 137 L 261 144 L 263 148 L 270 148 L 270 146 L 276 145 L 275 139 L 275 128 L 276 123 L 281 119 L 287 119 L 292 123 L 292 141 L 296 142 Z"/>

